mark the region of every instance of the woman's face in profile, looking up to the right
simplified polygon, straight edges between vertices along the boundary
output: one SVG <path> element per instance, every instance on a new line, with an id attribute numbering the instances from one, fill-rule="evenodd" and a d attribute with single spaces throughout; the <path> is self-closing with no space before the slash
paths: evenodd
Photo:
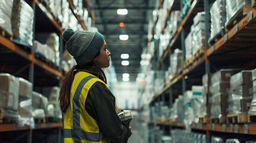
<path id="1" fill-rule="evenodd" d="M 101 48 L 100 48 L 100 55 L 94 58 L 94 62 L 100 68 L 109 67 L 111 53 L 107 50 L 107 44 L 104 40 Z"/>

